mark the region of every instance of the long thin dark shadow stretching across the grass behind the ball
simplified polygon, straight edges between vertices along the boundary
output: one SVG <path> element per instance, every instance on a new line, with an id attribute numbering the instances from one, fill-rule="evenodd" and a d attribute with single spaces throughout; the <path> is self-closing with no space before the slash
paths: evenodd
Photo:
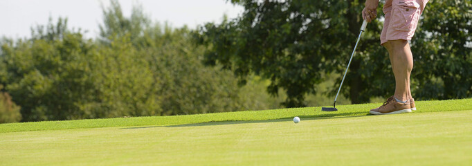
<path id="1" fill-rule="evenodd" d="M 360 114 L 360 115 L 358 115 Z M 357 115 L 357 116 L 354 116 Z M 313 116 L 299 116 L 302 120 L 326 120 L 326 119 L 339 119 L 339 118 L 355 118 L 371 116 L 369 113 L 329 113 Z M 127 127 L 121 129 L 147 129 L 155 127 L 201 127 L 201 126 L 217 126 L 217 125 L 227 125 L 227 124 L 247 124 L 247 123 L 265 123 L 265 122 L 287 122 L 292 121 L 293 117 L 285 117 L 272 120 L 235 120 L 235 121 L 210 121 L 210 122 L 201 122 L 201 123 L 192 123 L 192 124 L 174 124 L 174 125 L 165 125 L 165 126 L 147 126 L 147 127 Z"/>

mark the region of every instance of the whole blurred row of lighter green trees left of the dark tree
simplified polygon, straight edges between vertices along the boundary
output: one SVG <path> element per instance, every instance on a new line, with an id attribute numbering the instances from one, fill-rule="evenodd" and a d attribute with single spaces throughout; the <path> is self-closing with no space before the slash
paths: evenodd
<path id="1" fill-rule="evenodd" d="M 261 91 L 237 86 L 221 66 L 204 66 L 206 48 L 187 28 L 149 24 L 142 9 L 104 9 L 100 39 L 84 39 L 67 19 L 33 29 L 33 37 L 1 46 L 0 83 L 24 121 L 169 116 L 268 109 Z M 251 97 L 251 98 L 248 98 Z"/>

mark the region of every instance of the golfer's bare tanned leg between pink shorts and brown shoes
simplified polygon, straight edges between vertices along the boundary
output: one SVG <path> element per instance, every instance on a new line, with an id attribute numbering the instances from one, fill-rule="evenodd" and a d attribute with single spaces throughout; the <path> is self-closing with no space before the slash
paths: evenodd
<path id="1" fill-rule="evenodd" d="M 406 101 L 412 98 L 410 91 L 410 73 L 413 69 L 413 55 L 408 41 L 389 40 L 383 44 L 388 50 L 390 63 L 395 76 L 394 97 Z"/>

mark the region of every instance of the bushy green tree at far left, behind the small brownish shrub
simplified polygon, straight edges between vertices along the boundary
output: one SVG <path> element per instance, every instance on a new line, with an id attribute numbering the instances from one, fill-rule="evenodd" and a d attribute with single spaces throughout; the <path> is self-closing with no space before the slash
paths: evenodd
<path id="1" fill-rule="evenodd" d="M 1 82 L 21 106 L 24 120 L 63 120 L 82 116 L 75 101 L 87 100 L 93 46 L 80 32 L 69 32 L 66 19 L 33 32 L 33 38 L 2 46 Z"/>

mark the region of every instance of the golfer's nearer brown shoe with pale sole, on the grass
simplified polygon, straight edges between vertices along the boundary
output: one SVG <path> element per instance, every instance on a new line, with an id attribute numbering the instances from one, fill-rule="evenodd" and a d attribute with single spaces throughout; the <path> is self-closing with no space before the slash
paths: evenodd
<path id="1" fill-rule="evenodd" d="M 413 103 L 413 105 L 415 105 Z M 382 106 L 376 109 L 371 109 L 370 114 L 383 115 L 383 114 L 394 114 L 394 113 L 409 113 L 411 112 L 410 100 L 406 103 L 397 102 L 392 96 L 383 102 Z"/>

